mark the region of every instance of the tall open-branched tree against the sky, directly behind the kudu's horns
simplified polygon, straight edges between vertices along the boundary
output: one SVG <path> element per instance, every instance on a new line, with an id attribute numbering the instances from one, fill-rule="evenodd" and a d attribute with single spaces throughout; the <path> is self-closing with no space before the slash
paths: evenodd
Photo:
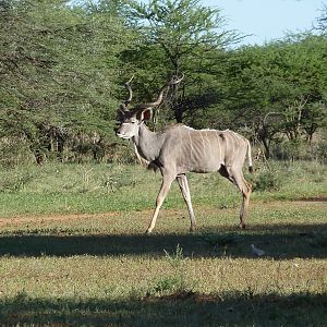
<path id="1" fill-rule="evenodd" d="M 197 88 L 203 88 L 203 72 L 208 73 L 208 61 L 213 63 L 217 59 L 214 53 L 235 43 L 239 36 L 222 28 L 225 22 L 218 9 L 203 7 L 199 0 L 131 2 L 130 17 L 145 40 L 141 52 L 146 53 L 147 60 L 160 60 L 156 72 L 160 71 L 165 80 L 181 72 L 186 75 L 181 97 L 174 90 L 171 98 L 174 119 L 182 122 L 190 108 L 185 105 L 194 104 L 187 98 L 186 86 L 196 83 Z"/>

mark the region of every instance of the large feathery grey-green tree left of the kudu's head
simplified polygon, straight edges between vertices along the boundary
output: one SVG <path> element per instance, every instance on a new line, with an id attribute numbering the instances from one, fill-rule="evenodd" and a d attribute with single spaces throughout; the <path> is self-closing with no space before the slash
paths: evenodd
<path id="1" fill-rule="evenodd" d="M 66 131 L 104 131 L 129 44 L 121 20 L 62 0 L 8 0 L 0 9 L 1 136 L 25 137 L 38 158 Z"/>

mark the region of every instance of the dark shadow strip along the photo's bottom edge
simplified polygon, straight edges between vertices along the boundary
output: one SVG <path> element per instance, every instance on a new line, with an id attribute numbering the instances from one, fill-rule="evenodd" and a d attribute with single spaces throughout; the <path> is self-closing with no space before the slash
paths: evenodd
<path id="1" fill-rule="evenodd" d="M 0 300 L 5 326 L 324 326 L 326 294 L 174 294 L 141 300 L 34 299 L 26 293 Z M 310 314 L 307 314 L 310 312 Z"/>

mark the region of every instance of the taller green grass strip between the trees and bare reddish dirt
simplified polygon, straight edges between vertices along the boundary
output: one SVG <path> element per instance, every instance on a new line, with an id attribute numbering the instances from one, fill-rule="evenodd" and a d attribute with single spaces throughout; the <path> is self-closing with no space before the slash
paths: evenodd
<path id="1" fill-rule="evenodd" d="M 271 174 L 276 181 L 271 181 Z M 269 170 L 264 165 L 257 166 L 247 178 L 255 189 L 252 201 L 272 201 L 327 196 L 326 175 L 324 166 L 316 162 L 272 162 Z M 219 174 L 190 174 L 189 179 L 194 205 L 218 208 L 240 205 L 237 187 Z M 160 173 L 138 166 L 49 164 L 3 169 L 0 217 L 150 209 L 160 180 Z M 262 191 L 263 187 L 267 190 Z M 175 183 L 165 206 L 184 207 Z"/>

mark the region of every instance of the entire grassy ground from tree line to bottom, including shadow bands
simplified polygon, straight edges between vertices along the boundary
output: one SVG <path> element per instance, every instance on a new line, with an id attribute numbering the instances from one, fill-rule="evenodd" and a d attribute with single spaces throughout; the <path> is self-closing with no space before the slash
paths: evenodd
<path id="1" fill-rule="evenodd" d="M 233 185 L 193 174 L 197 231 L 187 231 L 174 185 L 149 237 L 159 174 L 109 165 L 2 171 L 0 323 L 324 326 L 325 168 L 272 162 L 274 170 L 280 181 L 253 193 L 249 229 L 237 228 Z M 251 244 L 266 254 L 256 257 Z"/>

